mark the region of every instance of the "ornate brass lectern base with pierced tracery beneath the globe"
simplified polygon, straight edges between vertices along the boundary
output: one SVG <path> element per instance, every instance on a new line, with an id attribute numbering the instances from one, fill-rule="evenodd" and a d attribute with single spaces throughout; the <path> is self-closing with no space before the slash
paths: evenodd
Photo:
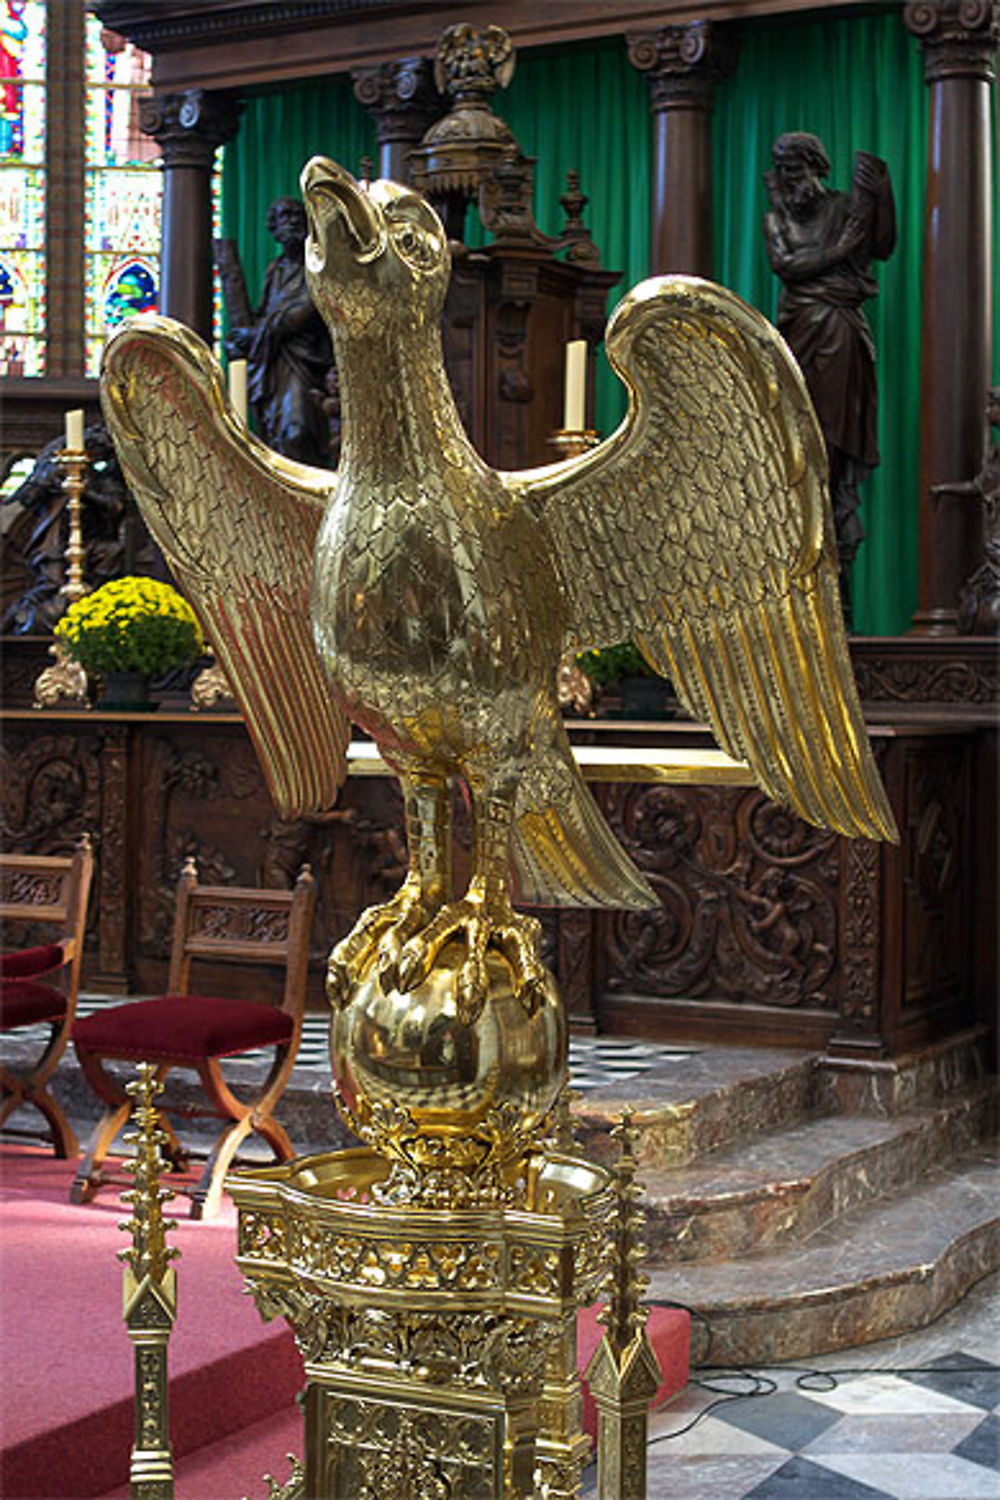
<path id="1" fill-rule="evenodd" d="M 522 1164 L 520 1206 L 378 1202 L 369 1149 L 229 1178 L 237 1263 L 306 1364 L 307 1500 L 571 1500 L 589 1456 L 576 1312 L 597 1300 L 612 1174 Z"/>

